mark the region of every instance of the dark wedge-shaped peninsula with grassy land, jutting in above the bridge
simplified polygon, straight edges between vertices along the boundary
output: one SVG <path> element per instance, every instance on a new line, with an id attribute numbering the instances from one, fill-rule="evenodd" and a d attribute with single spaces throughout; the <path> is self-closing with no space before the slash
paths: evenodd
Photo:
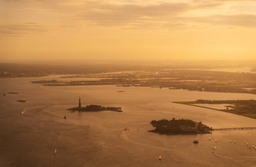
<path id="1" fill-rule="evenodd" d="M 197 100 L 197 101 L 177 101 L 175 103 L 197 106 L 195 104 L 230 104 L 226 109 L 215 109 L 232 114 L 238 114 L 256 119 L 256 100 Z M 203 107 L 203 106 L 200 106 Z M 208 109 L 214 109 L 204 107 Z"/>

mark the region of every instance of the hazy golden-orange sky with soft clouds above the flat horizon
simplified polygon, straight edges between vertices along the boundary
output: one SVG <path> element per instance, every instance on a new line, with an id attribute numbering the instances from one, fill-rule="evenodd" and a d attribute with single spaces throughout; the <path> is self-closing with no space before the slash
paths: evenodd
<path id="1" fill-rule="evenodd" d="M 0 0 L 0 58 L 256 60 L 256 1 Z"/>

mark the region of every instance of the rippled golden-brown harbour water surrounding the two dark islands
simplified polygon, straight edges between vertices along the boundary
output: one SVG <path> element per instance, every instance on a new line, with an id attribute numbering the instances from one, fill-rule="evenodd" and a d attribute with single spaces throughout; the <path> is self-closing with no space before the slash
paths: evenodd
<path id="1" fill-rule="evenodd" d="M 44 79 L 53 79 L 53 76 Z M 0 96 L 0 167 L 256 167 L 256 150 L 246 146 L 247 142 L 256 145 L 256 130 L 195 135 L 147 132 L 154 129 L 149 123 L 151 120 L 172 118 L 202 121 L 213 128 L 256 127 L 255 119 L 172 103 L 256 99 L 256 95 L 30 83 L 36 80 L 43 79 L 0 79 L 0 94 L 7 94 Z M 19 94 L 8 94 L 10 91 Z M 78 96 L 84 106 L 120 106 L 123 112 L 70 113 L 67 108 L 77 106 Z M 20 110 L 24 114 L 20 114 Z M 130 130 L 123 130 L 125 127 Z M 196 137 L 199 144 L 192 143 Z M 208 140 L 209 137 L 212 140 Z M 236 144 L 230 143 L 230 139 L 236 140 Z M 217 148 L 214 153 L 213 147 Z"/>

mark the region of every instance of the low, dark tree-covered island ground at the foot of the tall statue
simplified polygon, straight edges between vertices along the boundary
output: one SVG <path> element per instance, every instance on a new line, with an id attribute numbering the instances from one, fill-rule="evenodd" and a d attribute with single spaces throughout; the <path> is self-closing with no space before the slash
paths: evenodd
<path id="1" fill-rule="evenodd" d="M 118 111 L 122 112 L 121 107 L 104 107 L 98 105 L 89 105 L 86 107 L 74 107 L 72 109 L 67 109 L 70 111 Z"/>

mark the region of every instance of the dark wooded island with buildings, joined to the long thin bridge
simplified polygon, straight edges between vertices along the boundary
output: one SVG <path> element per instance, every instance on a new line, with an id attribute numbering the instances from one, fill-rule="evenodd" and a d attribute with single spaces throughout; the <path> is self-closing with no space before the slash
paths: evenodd
<path id="1" fill-rule="evenodd" d="M 190 119 L 175 119 L 167 120 L 161 119 L 159 121 L 150 122 L 156 129 L 149 132 L 157 132 L 159 134 L 200 134 L 210 133 L 209 130 L 212 128 L 202 124 L 202 122 L 195 122 Z"/>

